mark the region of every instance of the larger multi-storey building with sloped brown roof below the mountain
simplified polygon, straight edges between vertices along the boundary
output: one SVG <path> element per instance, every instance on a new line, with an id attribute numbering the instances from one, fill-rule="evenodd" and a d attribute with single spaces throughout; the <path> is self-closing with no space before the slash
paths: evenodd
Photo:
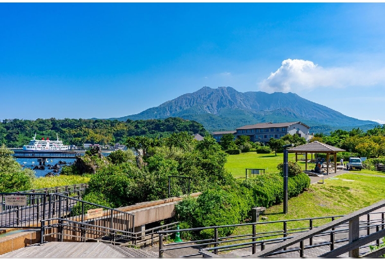
<path id="1" fill-rule="evenodd" d="M 252 142 L 268 142 L 270 138 L 279 139 L 286 134 L 298 134 L 307 141 L 310 139 L 310 127 L 302 122 L 284 122 L 284 123 L 258 123 L 246 125 L 236 129 L 236 137 L 246 135 Z"/>

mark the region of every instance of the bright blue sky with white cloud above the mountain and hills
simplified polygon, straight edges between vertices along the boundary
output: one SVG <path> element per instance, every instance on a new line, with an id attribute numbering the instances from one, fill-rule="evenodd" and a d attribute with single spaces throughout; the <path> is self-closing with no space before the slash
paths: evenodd
<path id="1" fill-rule="evenodd" d="M 0 119 L 121 117 L 231 86 L 384 124 L 384 13 L 384 3 L 0 3 Z"/>

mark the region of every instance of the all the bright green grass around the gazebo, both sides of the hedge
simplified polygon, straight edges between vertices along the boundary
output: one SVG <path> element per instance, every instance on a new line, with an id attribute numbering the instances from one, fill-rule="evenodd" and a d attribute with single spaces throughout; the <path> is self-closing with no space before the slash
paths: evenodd
<path id="1" fill-rule="evenodd" d="M 289 161 L 295 158 L 289 154 Z M 283 154 L 256 154 L 242 153 L 230 155 L 227 169 L 234 177 L 244 177 L 245 168 L 265 168 L 266 172 L 277 171 L 276 165 L 283 162 Z M 303 169 L 305 162 L 299 161 Z M 311 168 L 311 167 L 308 167 Z M 355 170 L 324 180 L 324 184 L 311 184 L 308 191 L 290 198 L 288 213 L 283 214 L 283 204 L 268 208 L 263 216 L 268 221 L 301 219 L 309 217 L 322 217 L 345 215 L 363 207 L 369 206 L 385 199 L 385 173 L 373 170 Z M 314 226 L 320 226 L 330 220 L 316 221 Z M 302 224 L 303 223 L 303 224 Z M 265 231 L 281 230 L 281 224 L 267 224 Z M 298 222 L 292 226 L 306 227 L 308 222 Z M 249 227 L 239 227 L 236 234 L 251 233 Z"/>

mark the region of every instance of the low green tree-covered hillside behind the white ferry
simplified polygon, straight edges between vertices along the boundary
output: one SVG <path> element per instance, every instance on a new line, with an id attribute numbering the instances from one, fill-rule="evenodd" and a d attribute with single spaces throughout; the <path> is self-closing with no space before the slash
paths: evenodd
<path id="1" fill-rule="evenodd" d="M 36 138 L 49 137 L 63 140 L 64 144 L 81 146 L 83 143 L 115 144 L 124 143 L 129 136 L 166 137 L 175 131 L 188 131 L 191 134 L 205 134 L 203 126 L 196 121 L 181 118 L 165 120 L 111 120 L 85 119 L 37 119 L 37 120 L 3 120 L 0 122 L 0 145 L 8 148 L 20 148 Z"/>

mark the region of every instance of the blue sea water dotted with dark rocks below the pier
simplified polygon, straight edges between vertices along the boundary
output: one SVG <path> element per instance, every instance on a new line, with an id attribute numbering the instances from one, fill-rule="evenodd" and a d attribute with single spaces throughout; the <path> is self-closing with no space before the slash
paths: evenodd
<path id="1" fill-rule="evenodd" d="M 38 159 L 22 159 L 22 158 L 16 158 L 16 161 L 22 165 L 23 168 L 31 168 L 34 170 L 34 166 L 39 166 Z M 51 166 L 54 166 L 56 163 L 59 163 L 59 161 L 66 162 L 67 164 L 61 164 L 59 165 L 59 171 L 58 172 L 53 172 L 53 169 L 49 169 L 48 164 Z M 35 169 L 35 175 L 39 177 L 44 177 L 45 174 L 48 172 L 52 172 L 54 175 L 58 175 L 60 171 L 62 170 L 63 166 L 68 166 L 70 164 L 73 164 L 75 162 L 75 159 L 68 159 L 68 158 L 58 158 L 58 159 L 47 159 L 45 162 L 45 169 Z M 41 163 L 42 164 L 42 163 Z"/>

